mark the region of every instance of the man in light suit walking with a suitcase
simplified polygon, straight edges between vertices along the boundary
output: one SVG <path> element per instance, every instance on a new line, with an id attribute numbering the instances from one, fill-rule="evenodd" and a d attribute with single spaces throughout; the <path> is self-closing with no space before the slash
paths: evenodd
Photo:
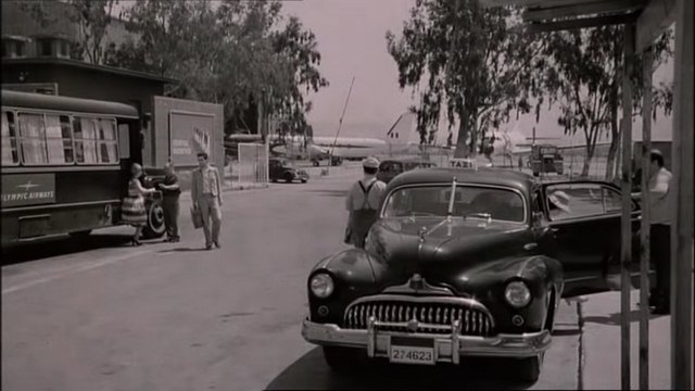
<path id="1" fill-rule="evenodd" d="M 222 180 L 217 168 L 207 163 L 207 153 L 198 154 L 199 167 L 193 171 L 191 199 L 193 207 L 200 209 L 203 216 L 203 232 L 205 234 L 205 249 L 212 250 L 213 244 L 219 244 L 219 227 L 222 226 Z M 212 220 L 212 232 L 211 232 Z"/>

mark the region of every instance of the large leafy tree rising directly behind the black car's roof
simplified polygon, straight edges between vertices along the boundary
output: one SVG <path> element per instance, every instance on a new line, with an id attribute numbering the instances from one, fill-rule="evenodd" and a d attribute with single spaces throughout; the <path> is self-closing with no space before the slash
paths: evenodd
<path id="1" fill-rule="evenodd" d="M 388 31 L 401 88 L 419 92 L 422 142 L 431 141 L 442 105 L 450 133 L 458 122 L 456 156 L 475 153 L 484 131 L 528 112 L 536 86 L 529 77 L 540 45 L 521 26 L 518 11 L 481 8 L 477 0 L 417 0 L 402 37 Z M 424 86 L 422 86 L 424 85 Z"/>

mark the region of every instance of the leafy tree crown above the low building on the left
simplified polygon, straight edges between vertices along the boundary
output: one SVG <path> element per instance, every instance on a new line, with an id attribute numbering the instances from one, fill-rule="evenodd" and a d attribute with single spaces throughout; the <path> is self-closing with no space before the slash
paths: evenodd
<path id="1" fill-rule="evenodd" d="M 172 94 L 222 103 L 227 130 L 261 105 L 303 133 L 311 102 L 328 86 L 317 66 L 316 37 L 290 17 L 285 28 L 277 1 L 138 0 L 126 13 L 139 39 L 112 47 L 110 63 L 180 80 Z M 302 91 L 302 88 L 305 91 Z"/>

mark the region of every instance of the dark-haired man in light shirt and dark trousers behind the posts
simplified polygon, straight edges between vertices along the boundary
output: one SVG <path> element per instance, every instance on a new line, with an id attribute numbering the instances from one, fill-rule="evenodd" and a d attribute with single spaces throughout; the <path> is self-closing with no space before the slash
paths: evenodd
<path id="1" fill-rule="evenodd" d="M 664 154 L 650 151 L 649 165 L 649 258 L 656 266 L 656 288 L 649 306 L 655 314 L 670 313 L 671 297 L 671 211 L 673 205 L 671 173 L 664 166 Z M 633 193 L 641 198 L 642 193 Z"/>

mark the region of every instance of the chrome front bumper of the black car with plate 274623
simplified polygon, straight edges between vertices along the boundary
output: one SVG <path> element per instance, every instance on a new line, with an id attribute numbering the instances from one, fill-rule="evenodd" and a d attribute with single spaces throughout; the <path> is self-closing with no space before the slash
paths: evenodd
<path id="1" fill-rule="evenodd" d="M 391 337 L 431 339 L 438 362 L 458 364 L 459 356 L 530 357 L 543 353 L 551 345 L 551 332 L 543 330 L 521 335 L 500 333 L 494 337 L 406 333 L 379 331 L 379 323 L 370 323 L 366 330 L 343 329 L 334 324 L 317 324 L 308 319 L 302 325 L 302 336 L 319 345 L 363 348 L 369 357 L 388 357 Z"/>

